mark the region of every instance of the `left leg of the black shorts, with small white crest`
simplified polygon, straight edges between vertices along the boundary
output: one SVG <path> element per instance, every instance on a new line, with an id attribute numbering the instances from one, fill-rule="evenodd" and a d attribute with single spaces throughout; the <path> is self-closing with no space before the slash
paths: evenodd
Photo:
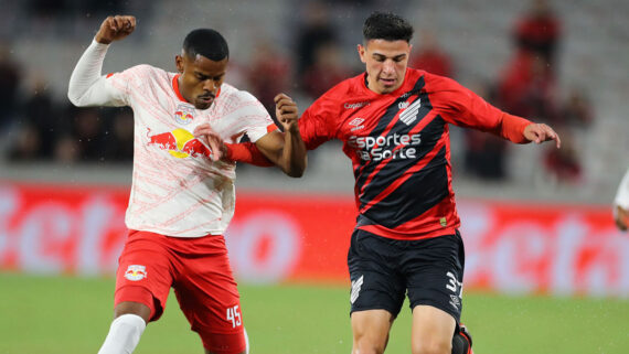
<path id="1" fill-rule="evenodd" d="M 385 310 L 396 318 L 406 292 L 397 271 L 398 250 L 391 240 L 360 229 L 352 234 L 348 268 L 352 282 L 350 313 Z"/>

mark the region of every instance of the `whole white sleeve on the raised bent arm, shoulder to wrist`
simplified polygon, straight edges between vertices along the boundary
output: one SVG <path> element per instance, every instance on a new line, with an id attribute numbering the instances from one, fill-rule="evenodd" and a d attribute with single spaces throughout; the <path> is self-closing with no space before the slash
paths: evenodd
<path id="1" fill-rule="evenodd" d="M 108 47 L 93 41 L 76 63 L 67 90 L 75 106 L 129 106 L 130 78 L 137 67 L 104 76 L 100 72 Z"/>

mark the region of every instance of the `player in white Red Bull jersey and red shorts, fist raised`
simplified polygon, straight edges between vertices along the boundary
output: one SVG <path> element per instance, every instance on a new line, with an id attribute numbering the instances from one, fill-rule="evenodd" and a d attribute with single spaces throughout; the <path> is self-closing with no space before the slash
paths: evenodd
<path id="1" fill-rule="evenodd" d="M 98 353 L 131 353 L 146 324 L 162 314 L 171 287 L 205 353 L 247 353 L 222 236 L 234 213 L 235 163 L 221 160 L 220 148 L 247 133 L 285 173 L 300 176 L 307 160 L 297 105 L 276 97 L 284 133 L 274 130 L 255 97 L 223 83 L 228 47 L 210 29 L 186 35 L 178 73 L 137 65 L 103 76 L 109 44 L 135 28 L 131 15 L 108 17 L 68 88 L 76 106 L 130 106 L 135 116 L 129 236 L 116 276 L 115 319 Z"/>

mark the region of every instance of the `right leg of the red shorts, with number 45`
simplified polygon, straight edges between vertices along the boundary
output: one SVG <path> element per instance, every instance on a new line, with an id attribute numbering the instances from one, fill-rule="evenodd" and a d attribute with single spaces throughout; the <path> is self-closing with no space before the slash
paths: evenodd
<path id="1" fill-rule="evenodd" d="M 211 353 L 246 348 L 238 289 L 222 237 L 194 240 L 200 250 L 182 261 L 173 288 L 182 312 Z"/>

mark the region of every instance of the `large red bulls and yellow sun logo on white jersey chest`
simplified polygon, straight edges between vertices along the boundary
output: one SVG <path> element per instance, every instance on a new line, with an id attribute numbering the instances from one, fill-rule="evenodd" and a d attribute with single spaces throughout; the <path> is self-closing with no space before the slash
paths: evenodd
<path id="1" fill-rule="evenodd" d="M 194 138 L 190 131 L 182 128 L 154 136 L 151 136 L 149 130 L 148 137 L 149 146 L 156 146 L 161 150 L 166 150 L 178 159 L 196 157 L 212 158 L 212 150 L 199 139 Z"/>

